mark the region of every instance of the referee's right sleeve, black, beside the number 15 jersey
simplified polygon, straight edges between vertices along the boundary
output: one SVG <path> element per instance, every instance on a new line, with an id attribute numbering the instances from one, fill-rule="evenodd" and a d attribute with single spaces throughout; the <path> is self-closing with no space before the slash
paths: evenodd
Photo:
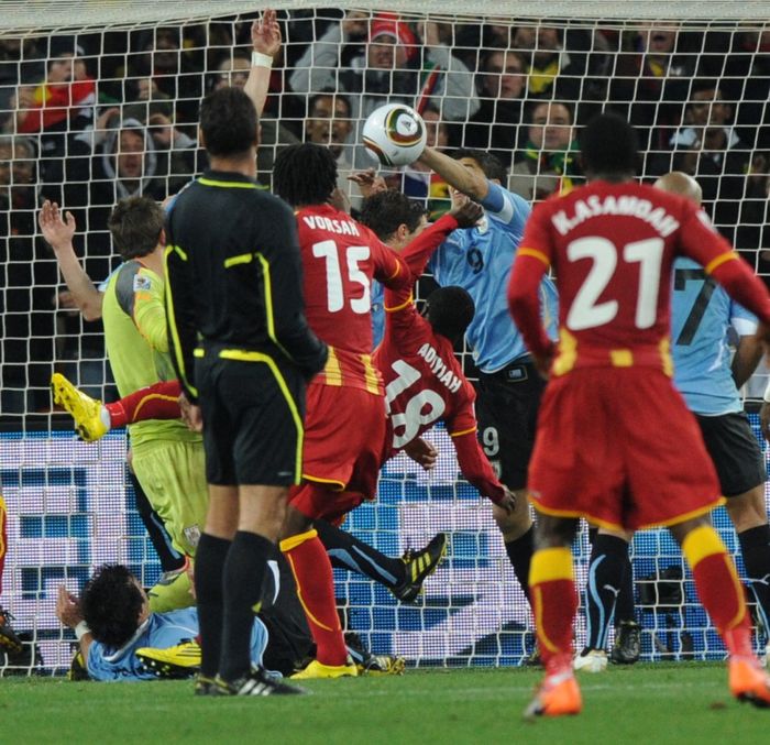
<path id="1" fill-rule="evenodd" d="M 305 318 L 297 221 L 288 208 L 275 211 L 261 260 L 267 331 L 273 342 L 310 379 L 323 369 L 328 349 Z"/>

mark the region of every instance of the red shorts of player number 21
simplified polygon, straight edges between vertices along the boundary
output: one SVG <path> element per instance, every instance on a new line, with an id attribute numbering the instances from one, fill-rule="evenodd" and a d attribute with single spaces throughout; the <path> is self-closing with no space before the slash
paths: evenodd
<path id="1" fill-rule="evenodd" d="M 539 512 L 628 530 L 679 523 L 722 501 L 695 417 L 650 368 L 552 379 L 528 486 Z"/>

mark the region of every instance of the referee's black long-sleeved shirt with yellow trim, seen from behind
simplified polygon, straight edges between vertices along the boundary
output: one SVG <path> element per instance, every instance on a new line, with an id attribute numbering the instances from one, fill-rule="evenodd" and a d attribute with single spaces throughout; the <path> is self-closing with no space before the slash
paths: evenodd
<path id="1" fill-rule="evenodd" d="M 194 350 L 221 346 L 285 355 L 310 376 L 326 346 L 305 318 L 297 223 L 290 208 L 235 173 L 207 171 L 166 217 L 172 357 L 197 397 Z"/>

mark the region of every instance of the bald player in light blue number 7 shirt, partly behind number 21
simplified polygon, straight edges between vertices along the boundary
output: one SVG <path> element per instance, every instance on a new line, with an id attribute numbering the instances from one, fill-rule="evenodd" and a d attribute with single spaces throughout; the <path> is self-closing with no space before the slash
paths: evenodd
<path id="1" fill-rule="evenodd" d="M 701 187 L 686 174 L 667 174 L 654 185 L 701 205 Z M 725 342 L 730 328 L 738 337 L 732 362 Z M 691 259 L 678 259 L 673 271 L 671 331 L 673 382 L 695 415 L 706 450 L 714 461 L 722 493 L 727 499 L 727 514 L 738 535 L 749 587 L 757 601 L 767 651 L 770 651 L 767 470 L 738 391 L 761 359 L 762 348 L 755 337 L 757 318 L 732 300 L 700 264 Z M 613 611 L 620 624 L 625 624 L 620 626 L 622 633 L 628 635 L 632 628 L 627 617 L 629 609 L 630 614 L 634 613 L 628 558 L 630 538 L 630 534 L 601 529 L 593 541 L 585 593 L 587 638 L 585 648 L 575 658 L 575 669 L 601 672 L 606 668 L 604 649 Z"/>

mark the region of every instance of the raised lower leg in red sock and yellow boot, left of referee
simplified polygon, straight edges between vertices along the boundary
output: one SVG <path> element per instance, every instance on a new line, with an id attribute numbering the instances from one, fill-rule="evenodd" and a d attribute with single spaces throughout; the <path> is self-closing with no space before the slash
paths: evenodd
<path id="1" fill-rule="evenodd" d="M 54 403 L 75 419 L 75 430 L 87 442 L 102 438 L 110 429 L 145 419 L 178 419 L 182 416 L 178 381 L 163 381 L 110 404 L 102 404 L 78 390 L 61 373 L 51 377 Z"/>

